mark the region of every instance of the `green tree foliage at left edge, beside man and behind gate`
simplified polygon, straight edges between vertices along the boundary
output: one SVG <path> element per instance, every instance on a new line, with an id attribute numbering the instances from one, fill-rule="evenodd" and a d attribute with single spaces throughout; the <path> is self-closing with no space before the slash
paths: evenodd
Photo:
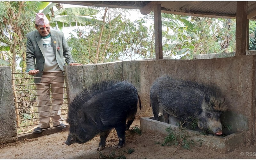
<path id="1" fill-rule="evenodd" d="M 0 63 L 4 62 L 5 65 L 11 64 L 12 73 L 25 72 L 26 34 L 35 29 L 33 20 L 35 19 L 36 12 L 39 12 L 39 8 L 42 7 L 42 5 L 42 2 L 31 1 L 0 2 L 0 57 L 2 59 Z M 17 63 L 18 60 L 20 60 L 20 64 Z M 21 67 L 21 70 L 16 68 L 18 65 Z M 15 74 L 14 76 L 16 80 L 13 85 L 28 84 L 33 81 L 24 79 L 26 74 Z M 24 86 L 16 86 L 14 88 L 15 90 L 20 90 L 23 87 Z M 23 88 L 23 91 L 16 91 L 17 98 L 14 99 L 15 102 L 33 100 L 33 97 L 25 97 L 26 95 L 34 94 L 34 92 L 31 92 L 31 88 L 33 88 L 33 86 L 29 85 Z M 31 108 L 25 107 L 31 107 L 34 103 L 19 103 L 18 105 L 18 111 L 21 114 L 28 113 Z M 33 116 L 34 115 L 31 114 L 20 115 L 22 119 L 29 119 Z M 33 122 L 29 121 L 29 123 Z M 26 122 L 21 121 L 20 126 L 23 124 L 26 124 Z M 19 130 L 23 132 L 22 128 L 19 128 Z"/>

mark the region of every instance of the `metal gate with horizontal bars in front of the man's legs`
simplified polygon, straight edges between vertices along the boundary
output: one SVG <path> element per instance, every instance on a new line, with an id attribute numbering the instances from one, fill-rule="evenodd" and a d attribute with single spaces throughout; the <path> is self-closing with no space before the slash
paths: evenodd
<path id="1" fill-rule="evenodd" d="M 64 72 L 65 71 L 55 71 L 55 72 Z M 46 73 L 46 72 L 39 72 L 39 73 Z M 64 77 L 66 75 L 64 74 Z M 52 76 L 54 77 L 54 76 Z M 33 76 L 28 75 L 27 72 L 22 73 L 12 73 L 12 89 L 14 95 L 14 105 L 15 105 L 15 113 L 16 113 L 16 123 L 17 123 L 17 132 L 18 135 L 31 133 L 39 124 L 39 117 L 37 107 L 38 101 L 37 100 L 37 90 L 35 83 L 34 83 Z M 66 78 L 64 78 L 66 79 Z M 60 82 L 63 83 L 63 82 Z M 51 84 L 51 83 L 44 83 L 44 84 Z M 54 88 L 62 88 L 62 87 L 54 87 Z M 50 94 L 41 94 L 41 95 L 52 95 L 51 92 L 52 86 L 50 87 Z M 61 118 L 65 125 L 67 112 L 68 112 L 68 101 L 67 101 L 67 88 L 66 88 L 66 80 L 64 81 L 64 103 L 61 107 Z M 60 93 L 53 93 L 53 94 L 60 94 Z M 58 99 L 60 100 L 60 99 Z M 50 100 L 51 102 L 51 100 Z M 59 104 L 55 104 L 59 105 Z M 52 106 L 52 105 L 44 105 L 44 106 Z M 49 111 L 49 110 L 47 110 Z M 47 112 L 43 111 L 43 112 Z M 53 111 L 53 110 L 52 110 Z M 50 116 L 45 116 L 50 117 Z M 57 122 L 57 121 L 53 121 Z M 41 123 L 46 124 L 46 123 Z M 50 122 L 50 126 L 52 127 L 52 121 Z"/>

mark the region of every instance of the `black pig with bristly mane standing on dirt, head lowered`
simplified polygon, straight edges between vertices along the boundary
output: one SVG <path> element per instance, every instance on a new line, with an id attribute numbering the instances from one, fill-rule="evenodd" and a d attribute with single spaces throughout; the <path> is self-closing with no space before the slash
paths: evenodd
<path id="1" fill-rule="evenodd" d="M 115 128 L 119 139 L 117 148 L 124 147 L 124 132 L 135 118 L 138 99 L 141 109 L 137 89 L 127 81 L 104 80 L 92 84 L 68 106 L 66 121 L 70 128 L 65 143 L 85 143 L 100 134 L 97 150 L 101 151 L 110 130 Z"/>

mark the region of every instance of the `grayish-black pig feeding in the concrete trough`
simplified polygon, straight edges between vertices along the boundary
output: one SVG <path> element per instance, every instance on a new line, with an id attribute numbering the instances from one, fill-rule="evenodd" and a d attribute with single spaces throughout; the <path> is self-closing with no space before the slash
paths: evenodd
<path id="1" fill-rule="evenodd" d="M 173 79 L 164 75 L 150 88 L 150 105 L 155 120 L 163 109 L 165 123 L 169 115 L 181 120 L 195 119 L 200 129 L 215 135 L 222 134 L 220 114 L 228 109 L 220 89 L 215 84 Z"/>

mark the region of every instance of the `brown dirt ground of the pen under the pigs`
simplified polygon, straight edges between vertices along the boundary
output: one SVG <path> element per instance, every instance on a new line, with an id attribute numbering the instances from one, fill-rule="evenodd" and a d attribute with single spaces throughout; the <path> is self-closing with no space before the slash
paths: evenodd
<path id="1" fill-rule="evenodd" d="M 133 122 L 132 126 L 136 125 L 140 125 L 140 120 Z M 63 142 L 65 142 L 68 132 L 61 131 L 39 138 L 0 145 L 0 158 L 256 158 L 256 147 L 254 146 L 237 148 L 228 154 L 195 146 L 189 150 L 184 148 L 176 150 L 177 146 L 175 145 L 161 146 L 164 137 L 144 132 L 141 135 L 131 131 L 125 133 L 126 144 L 124 148 L 120 149 L 116 149 L 118 138 L 115 130 L 109 134 L 106 148 L 101 152 L 96 151 L 99 145 L 99 136 L 84 144 L 67 146 Z"/>

